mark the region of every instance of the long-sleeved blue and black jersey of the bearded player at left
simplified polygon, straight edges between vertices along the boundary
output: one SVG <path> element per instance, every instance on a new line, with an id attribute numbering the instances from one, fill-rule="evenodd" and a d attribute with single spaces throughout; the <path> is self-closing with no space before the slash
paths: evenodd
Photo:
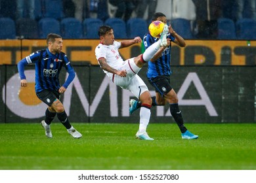
<path id="1" fill-rule="evenodd" d="M 66 54 L 60 52 L 59 54 L 51 54 L 48 48 L 30 54 L 26 58 L 22 59 L 20 63 L 24 63 L 22 66 L 35 63 L 35 92 L 41 92 L 42 90 L 58 91 L 60 88 L 60 80 L 58 75 L 62 67 L 65 67 L 69 73 L 68 79 L 62 85 L 64 88 L 68 88 L 68 85 L 75 77 L 75 71 L 70 64 Z M 24 75 L 24 67 L 18 65 L 20 71 L 20 79 L 26 79 Z"/>

